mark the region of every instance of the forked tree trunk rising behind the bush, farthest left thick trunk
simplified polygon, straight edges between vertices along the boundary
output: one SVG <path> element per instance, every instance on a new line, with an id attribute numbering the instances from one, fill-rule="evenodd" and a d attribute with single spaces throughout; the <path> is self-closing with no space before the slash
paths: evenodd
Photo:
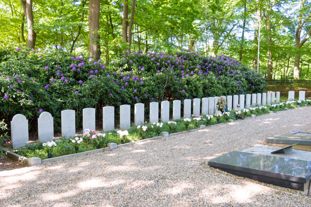
<path id="1" fill-rule="evenodd" d="M 34 30 L 34 15 L 32 12 L 32 0 L 20 0 L 27 20 L 28 38 L 26 46 L 35 49 L 37 34 Z"/>

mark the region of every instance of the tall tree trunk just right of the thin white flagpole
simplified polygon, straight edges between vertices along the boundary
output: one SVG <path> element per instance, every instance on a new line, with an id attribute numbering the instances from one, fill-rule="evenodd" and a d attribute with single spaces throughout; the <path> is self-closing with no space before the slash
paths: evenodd
<path id="1" fill-rule="evenodd" d="M 267 0 L 267 15 L 266 15 L 266 32 L 267 32 L 267 44 L 268 44 L 268 50 L 267 50 L 267 83 L 271 84 L 272 82 L 269 80 L 272 80 L 272 74 L 273 74 L 273 66 L 272 66 L 272 52 L 271 52 L 271 44 L 272 44 L 272 38 L 271 38 L 271 12 L 270 12 L 270 0 Z"/>

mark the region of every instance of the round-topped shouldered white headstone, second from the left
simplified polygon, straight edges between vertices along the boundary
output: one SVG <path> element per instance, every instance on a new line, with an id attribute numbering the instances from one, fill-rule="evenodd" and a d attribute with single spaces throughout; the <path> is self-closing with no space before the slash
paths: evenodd
<path id="1" fill-rule="evenodd" d="M 40 142 L 48 142 L 53 140 L 53 117 L 47 111 L 42 112 L 38 118 L 38 137 Z"/>

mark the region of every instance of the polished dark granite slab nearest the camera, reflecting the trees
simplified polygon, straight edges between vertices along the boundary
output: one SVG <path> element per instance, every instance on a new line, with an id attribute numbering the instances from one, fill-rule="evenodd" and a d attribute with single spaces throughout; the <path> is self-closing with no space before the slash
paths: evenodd
<path id="1" fill-rule="evenodd" d="M 232 151 L 207 162 L 228 173 L 260 182 L 307 191 L 311 161 Z"/>

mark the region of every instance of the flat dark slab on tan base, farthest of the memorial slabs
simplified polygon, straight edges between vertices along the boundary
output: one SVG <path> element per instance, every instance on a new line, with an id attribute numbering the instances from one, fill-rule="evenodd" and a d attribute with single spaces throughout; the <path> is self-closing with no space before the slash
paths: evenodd
<path id="1" fill-rule="evenodd" d="M 279 134 L 273 137 L 266 138 L 268 143 L 281 143 L 281 144 L 295 144 L 301 142 L 301 145 L 311 145 L 310 135 L 296 135 L 296 134 Z"/>

